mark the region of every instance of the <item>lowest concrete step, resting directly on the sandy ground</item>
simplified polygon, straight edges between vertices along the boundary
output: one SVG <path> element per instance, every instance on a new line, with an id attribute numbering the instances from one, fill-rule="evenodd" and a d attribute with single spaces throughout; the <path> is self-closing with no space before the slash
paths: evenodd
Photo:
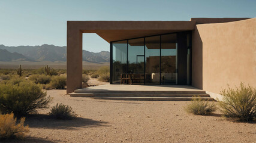
<path id="1" fill-rule="evenodd" d="M 139 100 L 139 101 L 191 101 L 192 97 L 91 97 L 97 100 Z M 200 97 L 202 100 L 213 101 L 210 97 Z"/>

